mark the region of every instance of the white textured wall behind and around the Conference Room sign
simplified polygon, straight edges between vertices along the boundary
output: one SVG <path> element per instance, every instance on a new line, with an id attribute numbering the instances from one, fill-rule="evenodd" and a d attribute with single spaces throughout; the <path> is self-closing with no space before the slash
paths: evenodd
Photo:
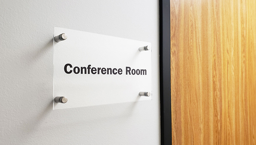
<path id="1" fill-rule="evenodd" d="M 54 26 L 152 43 L 153 100 L 53 110 Z M 158 0 L 0 0 L 1 145 L 159 145 Z"/>

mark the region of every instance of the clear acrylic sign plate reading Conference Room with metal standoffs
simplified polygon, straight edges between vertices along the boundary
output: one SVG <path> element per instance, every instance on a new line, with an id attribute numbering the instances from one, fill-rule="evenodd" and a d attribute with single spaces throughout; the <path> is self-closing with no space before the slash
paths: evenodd
<path id="1" fill-rule="evenodd" d="M 151 43 L 58 27 L 54 36 L 53 109 L 152 100 Z"/>

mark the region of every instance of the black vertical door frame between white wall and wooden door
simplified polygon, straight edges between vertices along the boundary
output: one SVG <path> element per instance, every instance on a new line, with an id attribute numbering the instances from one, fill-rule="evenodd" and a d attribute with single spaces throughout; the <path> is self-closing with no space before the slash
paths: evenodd
<path id="1" fill-rule="evenodd" d="M 170 0 L 159 0 L 161 145 L 171 145 Z"/>

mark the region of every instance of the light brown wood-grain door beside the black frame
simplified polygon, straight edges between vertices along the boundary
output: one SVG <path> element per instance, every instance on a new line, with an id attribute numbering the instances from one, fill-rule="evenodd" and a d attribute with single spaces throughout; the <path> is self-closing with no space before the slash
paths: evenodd
<path id="1" fill-rule="evenodd" d="M 170 0 L 173 145 L 256 144 L 256 0 Z"/>

